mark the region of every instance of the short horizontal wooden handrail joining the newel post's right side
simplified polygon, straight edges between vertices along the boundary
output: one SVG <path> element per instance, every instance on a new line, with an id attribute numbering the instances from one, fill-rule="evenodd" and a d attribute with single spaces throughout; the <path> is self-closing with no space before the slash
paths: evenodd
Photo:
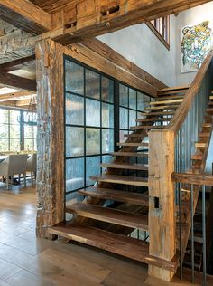
<path id="1" fill-rule="evenodd" d="M 187 174 L 187 173 L 173 173 L 171 175 L 173 182 L 199 185 L 199 186 L 213 186 L 212 175 L 201 175 L 201 174 Z"/>

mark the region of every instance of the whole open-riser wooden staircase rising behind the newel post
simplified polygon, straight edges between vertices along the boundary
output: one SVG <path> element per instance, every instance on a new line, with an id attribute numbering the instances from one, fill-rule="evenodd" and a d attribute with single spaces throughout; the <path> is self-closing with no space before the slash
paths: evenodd
<path id="1" fill-rule="evenodd" d="M 111 163 L 102 163 L 106 172 L 91 176 L 97 186 L 79 190 L 86 198 L 83 203 L 66 206 L 73 215 L 70 222 L 50 228 L 51 234 L 117 253 L 139 262 L 149 263 L 173 272 L 178 267 L 149 254 L 149 243 L 131 237 L 137 229 L 149 231 L 148 225 L 148 132 L 165 129 L 180 106 L 188 87 L 165 89 L 150 103 L 137 119 L 133 132 L 125 134 L 125 142 L 118 142 Z"/>

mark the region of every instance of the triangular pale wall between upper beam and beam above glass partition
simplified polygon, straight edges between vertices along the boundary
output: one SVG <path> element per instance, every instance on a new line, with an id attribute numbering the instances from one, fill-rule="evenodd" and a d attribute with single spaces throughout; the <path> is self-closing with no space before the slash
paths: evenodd
<path id="1" fill-rule="evenodd" d="M 107 33 L 98 39 L 166 85 L 175 86 L 175 22 L 175 17 L 171 16 L 171 51 L 166 49 L 146 24 Z"/>

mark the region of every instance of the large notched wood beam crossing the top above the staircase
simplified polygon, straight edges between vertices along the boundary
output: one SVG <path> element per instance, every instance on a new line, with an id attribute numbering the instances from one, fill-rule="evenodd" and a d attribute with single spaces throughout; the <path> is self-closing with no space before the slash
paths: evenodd
<path id="1" fill-rule="evenodd" d="M 54 40 L 64 45 L 77 43 L 88 37 L 115 32 L 207 2 L 209 0 L 78 1 L 63 9 L 63 25 L 55 30 Z"/>

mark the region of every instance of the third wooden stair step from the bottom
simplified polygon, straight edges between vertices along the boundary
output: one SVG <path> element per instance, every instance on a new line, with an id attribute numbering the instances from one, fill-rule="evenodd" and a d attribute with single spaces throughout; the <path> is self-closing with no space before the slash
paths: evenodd
<path id="1" fill-rule="evenodd" d="M 149 206 L 149 195 L 125 192 L 115 189 L 87 187 L 78 191 L 80 195 L 96 197 L 104 200 L 113 200 L 133 205 Z"/>

